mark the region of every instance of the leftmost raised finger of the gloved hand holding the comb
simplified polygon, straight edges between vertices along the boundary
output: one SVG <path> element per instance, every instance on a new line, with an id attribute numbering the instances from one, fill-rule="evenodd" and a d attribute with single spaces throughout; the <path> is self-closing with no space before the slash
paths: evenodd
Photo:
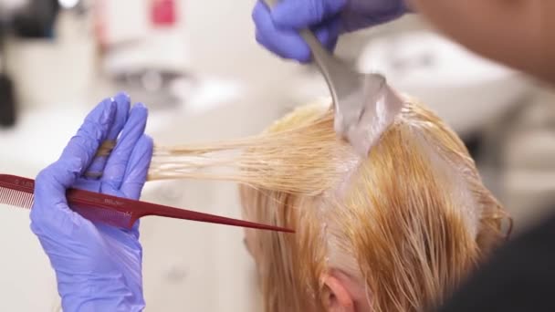
<path id="1" fill-rule="evenodd" d="M 66 190 L 88 167 L 100 142 L 108 135 L 115 110 L 114 102 L 101 102 L 89 113 L 77 135 L 69 140 L 58 161 L 38 173 L 35 203 L 30 213 L 32 225 L 69 230 L 82 220 L 68 209 Z"/>

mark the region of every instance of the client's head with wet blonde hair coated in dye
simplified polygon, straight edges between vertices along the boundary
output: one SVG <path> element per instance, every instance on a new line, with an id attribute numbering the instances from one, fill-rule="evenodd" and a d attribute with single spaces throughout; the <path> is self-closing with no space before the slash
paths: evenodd
<path id="1" fill-rule="evenodd" d="M 265 163 L 250 170 L 264 181 L 240 187 L 244 214 L 296 231 L 246 230 L 268 312 L 435 307 L 503 237 L 505 214 L 464 144 L 414 101 L 364 159 L 325 104 L 266 134 L 288 143 L 258 148 Z"/>

